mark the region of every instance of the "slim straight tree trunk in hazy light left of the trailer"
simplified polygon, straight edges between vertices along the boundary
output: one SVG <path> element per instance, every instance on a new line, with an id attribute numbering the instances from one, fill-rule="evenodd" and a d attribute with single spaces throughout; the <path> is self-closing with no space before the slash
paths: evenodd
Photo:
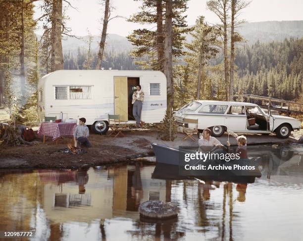
<path id="1" fill-rule="evenodd" d="M 25 67 L 24 67 L 24 1 L 21 2 L 21 44 L 20 44 L 20 87 L 21 96 L 25 97 Z"/>

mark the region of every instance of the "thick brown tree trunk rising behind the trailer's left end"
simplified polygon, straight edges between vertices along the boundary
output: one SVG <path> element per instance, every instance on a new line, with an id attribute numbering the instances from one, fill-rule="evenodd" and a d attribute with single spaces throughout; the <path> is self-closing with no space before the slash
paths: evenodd
<path id="1" fill-rule="evenodd" d="M 51 13 L 51 72 L 63 69 L 62 33 L 62 0 L 53 0 Z"/>

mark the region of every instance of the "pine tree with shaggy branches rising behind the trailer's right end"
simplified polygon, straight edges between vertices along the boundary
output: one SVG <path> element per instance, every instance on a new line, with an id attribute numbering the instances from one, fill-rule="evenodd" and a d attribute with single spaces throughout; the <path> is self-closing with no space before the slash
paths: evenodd
<path id="1" fill-rule="evenodd" d="M 135 63 L 140 64 L 142 68 L 163 70 L 165 1 L 140 1 L 142 1 L 140 11 L 133 14 L 128 21 L 140 24 L 156 24 L 157 28 L 156 30 L 136 29 L 127 36 L 128 40 L 135 46 L 131 55 L 137 58 Z M 187 27 L 186 15 L 184 15 L 187 2 L 188 0 L 172 2 L 172 56 L 174 59 L 184 55 L 184 35 L 192 30 L 192 28 Z"/>

